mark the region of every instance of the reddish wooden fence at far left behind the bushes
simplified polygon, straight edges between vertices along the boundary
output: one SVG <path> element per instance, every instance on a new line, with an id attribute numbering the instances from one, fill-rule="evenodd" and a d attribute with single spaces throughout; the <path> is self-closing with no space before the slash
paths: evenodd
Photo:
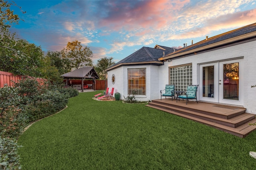
<path id="1" fill-rule="evenodd" d="M 4 87 L 4 84 L 7 84 L 8 86 L 13 86 L 15 83 L 17 83 L 22 78 L 34 78 L 34 77 L 20 76 L 20 75 L 14 76 L 10 72 L 0 71 L 0 88 Z M 45 79 L 45 78 L 36 78 L 36 81 L 38 81 L 38 83 L 40 85 L 43 85 L 44 82 L 47 81 L 47 79 Z"/>

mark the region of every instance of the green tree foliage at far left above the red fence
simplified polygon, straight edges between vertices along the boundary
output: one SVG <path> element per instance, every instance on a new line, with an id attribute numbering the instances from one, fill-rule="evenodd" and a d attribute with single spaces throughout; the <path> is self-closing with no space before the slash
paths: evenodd
<path id="1" fill-rule="evenodd" d="M 0 0 L 0 70 L 41 76 L 40 68 L 43 66 L 44 57 L 41 47 L 19 40 L 15 33 L 9 31 L 11 24 L 18 24 L 20 21 L 19 16 L 10 10 L 11 6 L 18 7 L 13 1 Z"/>

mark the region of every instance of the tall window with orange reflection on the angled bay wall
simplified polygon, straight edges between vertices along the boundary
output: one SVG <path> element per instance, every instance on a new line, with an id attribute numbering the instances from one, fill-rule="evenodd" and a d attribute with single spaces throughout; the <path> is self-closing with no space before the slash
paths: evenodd
<path id="1" fill-rule="evenodd" d="M 128 94 L 146 95 L 146 68 L 128 69 Z"/>

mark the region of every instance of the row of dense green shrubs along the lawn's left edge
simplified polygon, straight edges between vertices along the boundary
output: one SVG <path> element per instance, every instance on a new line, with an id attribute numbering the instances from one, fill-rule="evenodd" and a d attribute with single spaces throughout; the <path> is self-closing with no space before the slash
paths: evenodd
<path id="1" fill-rule="evenodd" d="M 24 128 L 65 108 L 68 98 L 77 95 L 73 88 L 40 86 L 34 79 L 0 88 L 0 169 L 21 169 L 16 139 Z"/>

